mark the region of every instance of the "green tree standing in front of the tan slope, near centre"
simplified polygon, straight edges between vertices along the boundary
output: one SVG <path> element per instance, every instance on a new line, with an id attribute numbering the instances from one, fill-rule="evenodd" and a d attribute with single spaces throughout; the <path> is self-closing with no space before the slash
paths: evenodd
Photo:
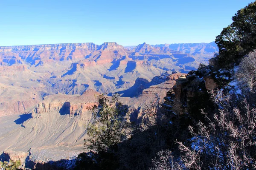
<path id="1" fill-rule="evenodd" d="M 118 94 L 114 94 L 110 100 L 103 94 L 99 96 L 99 106 L 94 106 L 92 109 L 95 121 L 87 127 L 90 138 L 85 142 L 89 142 L 89 149 L 107 150 L 111 145 L 122 140 L 124 116 L 128 108 L 119 102 L 119 97 Z"/>

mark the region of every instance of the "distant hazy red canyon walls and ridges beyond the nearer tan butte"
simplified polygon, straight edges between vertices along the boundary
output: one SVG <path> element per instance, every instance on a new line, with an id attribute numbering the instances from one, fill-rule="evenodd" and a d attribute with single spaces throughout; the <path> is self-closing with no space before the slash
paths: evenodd
<path id="1" fill-rule="evenodd" d="M 123 47 L 116 42 L 104 42 L 0 47 L 0 116 L 26 113 L 50 94 L 81 95 L 88 89 L 104 94 L 131 88 L 138 91 L 134 88 L 137 78 L 150 82 L 166 71 L 187 73 L 199 63 L 206 63 L 214 52 L 213 43 L 144 42 L 136 47 Z"/>

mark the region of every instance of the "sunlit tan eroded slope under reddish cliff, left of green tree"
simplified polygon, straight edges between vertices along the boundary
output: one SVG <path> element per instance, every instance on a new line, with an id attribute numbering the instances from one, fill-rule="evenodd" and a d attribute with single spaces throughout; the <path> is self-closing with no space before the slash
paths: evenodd
<path id="1" fill-rule="evenodd" d="M 38 150 L 78 147 L 82 150 L 84 139 L 87 138 L 86 125 L 93 121 L 89 108 L 97 105 L 97 95 L 99 93 L 93 90 L 73 96 L 54 94 L 47 96 L 29 114 L 20 115 L 20 118 L 0 118 L 0 152 L 7 148 L 27 152 L 31 147 Z M 8 122 L 12 118 L 14 120 Z M 53 154 L 49 150 L 47 152 Z M 26 157 L 23 153 L 6 153 L 15 160 Z M 44 158 L 37 158 L 40 159 Z"/>

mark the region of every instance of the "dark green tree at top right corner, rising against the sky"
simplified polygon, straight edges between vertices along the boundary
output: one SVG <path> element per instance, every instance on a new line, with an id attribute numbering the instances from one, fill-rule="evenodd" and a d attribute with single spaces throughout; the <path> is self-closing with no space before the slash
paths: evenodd
<path id="1" fill-rule="evenodd" d="M 233 69 L 235 63 L 249 51 L 256 49 L 256 2 L 237 11 L 233 23 L 223 28 L 216 37 L 219 63 L 222 68 Z"/>

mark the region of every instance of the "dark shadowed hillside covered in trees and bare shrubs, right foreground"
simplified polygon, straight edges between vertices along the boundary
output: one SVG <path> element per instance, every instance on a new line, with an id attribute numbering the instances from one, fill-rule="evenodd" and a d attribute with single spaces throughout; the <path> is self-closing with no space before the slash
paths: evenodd
<path id="1" fill-rule="evenodd" d="M 177 80 L 180 98 L 166 97 L 168 111 L 148 107 L 130 124 L 128 138 L 116 136 L 108 150 L 81 154 L 76 168 L 255 169 L 256 2 L 232 19 L 216 37 L 214 63 Z"/>

